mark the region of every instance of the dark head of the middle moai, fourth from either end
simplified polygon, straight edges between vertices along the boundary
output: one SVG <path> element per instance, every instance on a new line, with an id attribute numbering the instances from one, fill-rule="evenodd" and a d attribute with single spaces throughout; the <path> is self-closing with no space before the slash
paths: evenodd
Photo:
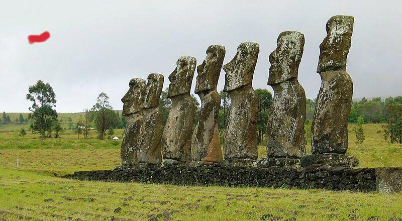
<path id="1" fill-rule="evenodd" d="M 211 45 L 207 49 L 207 57 L 204 62 L 197 66 L 197 80 L 195 93 L 201 93 L 217 88 L 219 74 L 225 58 L 225 47 Z"/>

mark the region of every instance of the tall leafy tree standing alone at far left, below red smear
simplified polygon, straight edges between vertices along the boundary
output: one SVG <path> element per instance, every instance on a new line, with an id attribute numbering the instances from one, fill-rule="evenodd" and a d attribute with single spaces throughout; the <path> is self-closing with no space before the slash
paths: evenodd
<path id="1" fill-rule="evenodd" d="M 31 129 L 34 133 L 39 133 L 42 138 L 46 133 L 51 136 L 53 123 L 57 121 L 57 112 L 53 107 L 56 106 L 56 94 L 49 83 L 42 80 L 28 88 L 27 100 L 32 101 L 29 110 L 32 113 Z"/>

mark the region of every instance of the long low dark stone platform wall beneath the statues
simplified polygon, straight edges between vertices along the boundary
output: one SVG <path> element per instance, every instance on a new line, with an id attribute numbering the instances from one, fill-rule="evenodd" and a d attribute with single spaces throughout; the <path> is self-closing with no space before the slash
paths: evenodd
<path id="1" fill-rule="evenodd" d="M 134 166 L 113 170 L 79 171 L 67 178 L 175 185 L 219 185 L 324 188 L 352 191 L 402 191 L 402 168 L 359 168 L 311 165 L 306 168 L 203 166 Z"/>

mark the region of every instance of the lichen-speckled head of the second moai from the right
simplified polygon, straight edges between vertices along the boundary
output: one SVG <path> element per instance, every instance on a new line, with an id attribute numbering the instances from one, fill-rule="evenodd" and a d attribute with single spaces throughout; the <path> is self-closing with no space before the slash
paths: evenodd
<path id="1" fill-rule="evenodd" d="M 275 51 L 269 55 L 271 66 L 269 67 L 268 85 L 297 77 L 305 37 L 300 32 L 286 31 L 280 33 L 276 44 Z"/>

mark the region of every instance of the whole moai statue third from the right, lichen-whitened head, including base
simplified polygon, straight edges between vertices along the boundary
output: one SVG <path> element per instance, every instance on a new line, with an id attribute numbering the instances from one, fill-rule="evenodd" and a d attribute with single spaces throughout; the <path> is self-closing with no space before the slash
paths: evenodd
<path id="1" fill-rule="evenodd" d="M 231 103 L 224 137 L 224 165 L 252 166 L 257 159 L 257 96 L 251 85 L 260 51 L 257 43 L 244 42 L 236 56 L 223 66 Z"/>

